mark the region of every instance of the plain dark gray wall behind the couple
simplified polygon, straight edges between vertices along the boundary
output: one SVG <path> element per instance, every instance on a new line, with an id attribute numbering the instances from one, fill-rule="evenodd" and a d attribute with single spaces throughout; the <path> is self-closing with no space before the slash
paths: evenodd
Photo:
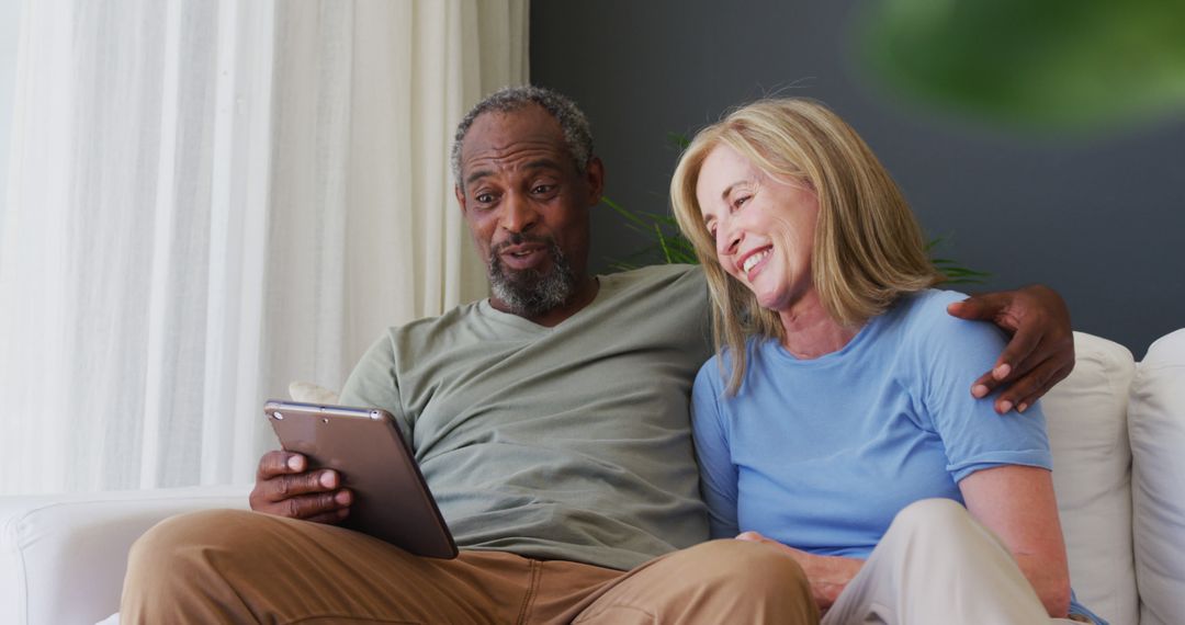
<path id="1" fill-rule="evenodd" d="M 872 146 L 947 256 L 984 286 L 1057 289 L 1075 329 L 1127 346 L 1185 327 L 1185 115 L 1037 140 L 904 104 L 848 52 L 848 0 L 536 0 L 531 77 L 588 112 L 607 195 L 667 211 L 677 152 L 730 105 L 781 90 L 821 99 Z M 594 269 L 645 245 L 607 208 Z"/>

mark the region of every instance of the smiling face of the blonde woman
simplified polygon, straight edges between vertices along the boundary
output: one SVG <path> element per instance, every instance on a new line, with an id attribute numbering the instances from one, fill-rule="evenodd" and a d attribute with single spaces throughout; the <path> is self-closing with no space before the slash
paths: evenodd
<path id="1" fill-rule="evenodd" d="M 707 153 L 696 185 L 716 257 L 762 308 L 789 311 L 814 290 L 819 201 L 805 183 L 779 181 L 729 146 Z"/>

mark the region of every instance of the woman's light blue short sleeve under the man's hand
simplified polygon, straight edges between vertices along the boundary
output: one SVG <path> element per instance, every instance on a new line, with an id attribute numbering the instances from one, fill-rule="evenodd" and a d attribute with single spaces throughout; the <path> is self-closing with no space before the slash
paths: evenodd
<path id="1" fill-rule="evenodd" d="M 914 316 L 921 331 L 911 333 L 923 372 L 922 398 L 947 452 L 955 482 L 993 466 L 1018 464 L 1052 469 L 1045 415 L 1039 402 L 1024 414 L 997 414 L 997 394 L 975 399 L 971 385 L 992 368 L 1004 350 L 1004 334 L 989 323 L 965 321 L 946 307 L 962 298 L 953 291 L 930 291 Z"/>

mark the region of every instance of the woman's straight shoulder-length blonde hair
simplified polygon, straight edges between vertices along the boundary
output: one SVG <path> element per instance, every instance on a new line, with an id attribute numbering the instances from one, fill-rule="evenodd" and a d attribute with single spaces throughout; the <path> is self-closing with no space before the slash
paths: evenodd
<path id="1" fill-rule="evenodd" d="M 819 217 L 811 276 L 835 321 L 859 326 L 901 295 L 942 279 L 925 256 L 922 228 L 901 189 L 839 116 L 803 98 L 761 99 L 732 111 L 696 135 L 671 180 L 679 228 L 707 276 L 717 354 L 725 348 L 731 353 L 730 394 L 744 379 L 747 337 L 781 341 L 784 330 L 774 311 L 762 309 L 752 291 L 724 271 L 704 225 L 696 186 L 704 160 L 718 146 L 735 149 L 776 180 L 814 191 Z"/>

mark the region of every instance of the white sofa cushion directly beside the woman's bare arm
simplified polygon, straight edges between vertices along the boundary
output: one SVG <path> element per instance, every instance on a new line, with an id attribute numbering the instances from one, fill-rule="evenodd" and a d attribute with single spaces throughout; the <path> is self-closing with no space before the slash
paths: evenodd
<path id="1" fill-rule="evenodd" d="M 1042 400 L 1070 582 L 1100 617 L 1136 623 L 1127 434 L 1135 362 L 1127 348 L 1089 334 L 1074 333 L 1074 372 Z"/>

